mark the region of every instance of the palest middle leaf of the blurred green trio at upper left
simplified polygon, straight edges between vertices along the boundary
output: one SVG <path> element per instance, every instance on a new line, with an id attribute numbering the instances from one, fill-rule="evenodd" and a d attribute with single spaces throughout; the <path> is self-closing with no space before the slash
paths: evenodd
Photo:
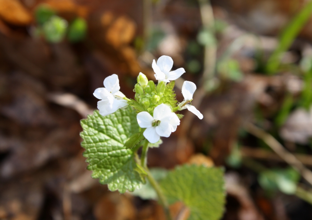
<path id="1" fill-rule="evenodd" d="M 48 42 L 58 43 L 63 40 L 67 29 L 67 21 L 59 16 L 53 16 L 43 25 L 44 37 Z"/>

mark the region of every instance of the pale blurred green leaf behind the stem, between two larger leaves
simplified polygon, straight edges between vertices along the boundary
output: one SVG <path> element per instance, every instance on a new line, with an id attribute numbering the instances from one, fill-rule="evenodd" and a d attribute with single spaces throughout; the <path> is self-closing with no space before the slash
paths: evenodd
<path id="1" fill-rule="evenodd" d="M 167 176 L 168 171 L 162 168 L 150 169 L 151 175 L 156 181 L 162 180 Z M 152 185 L 147 181 L 145 185 L 139 190 L 134 190 L 132 193 L 134 196 L 139 196 L 141 199 L 154 199 L 157 200 L 158 196 Z"/>

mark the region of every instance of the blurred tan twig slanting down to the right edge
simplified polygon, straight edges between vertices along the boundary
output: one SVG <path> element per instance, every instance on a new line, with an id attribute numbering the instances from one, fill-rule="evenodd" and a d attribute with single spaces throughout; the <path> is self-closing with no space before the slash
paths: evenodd
<path id="1" fill-rule="evenodd" d="M 256 127 L 254 124 L 248 123 L 245 126 L 246 130 L 262 139 L 271 149 L 280 156 L 285 162 L 292 166 L 295 170 L 301 173 L 302 177 L 312 185 L 312 172 L 302 164 L 293 154 L 288 152 L 271 134 Z"/>

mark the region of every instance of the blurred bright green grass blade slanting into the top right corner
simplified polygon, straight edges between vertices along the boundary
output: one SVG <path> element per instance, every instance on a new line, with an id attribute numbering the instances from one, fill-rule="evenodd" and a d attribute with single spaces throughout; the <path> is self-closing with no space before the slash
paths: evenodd
<path id="1" fill-rule="evenodd" d="M 285 27 L 279 38 L 279 44 L 266 65 L 266 71 L 269 74 L 276 73 L 280 66 L 282 55 L 288 50 L 300 30 L 305 26 L 312 13 L 312 1 L 307 2 L 302 10 Z"/>

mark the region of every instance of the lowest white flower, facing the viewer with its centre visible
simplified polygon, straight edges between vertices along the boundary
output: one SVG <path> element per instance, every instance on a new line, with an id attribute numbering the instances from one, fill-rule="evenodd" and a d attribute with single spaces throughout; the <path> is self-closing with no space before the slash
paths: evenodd
<path id="1" fill-rule="evenodd" d="M 160 136 L 168 138 L 171 132 L 175 132 L 180 124 L 178 116 L 171 112 L 168 105 L 160 104 L 154 109 L 154 116 L 147 111 L 137 115 L 137 121 L 141 128 L 146 128 L 143 135 L 150 143 L 156 143 Z"/>

